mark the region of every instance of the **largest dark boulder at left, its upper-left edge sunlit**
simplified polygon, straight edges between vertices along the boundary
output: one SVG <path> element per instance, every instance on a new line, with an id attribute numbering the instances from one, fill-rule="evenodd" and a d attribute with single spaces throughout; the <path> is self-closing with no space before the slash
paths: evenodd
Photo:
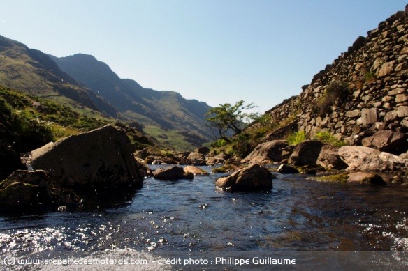
<path id="1" fill-rule="evenodd" d="M 66 137 L 31 152 L 33 169 L 43 169 L 77 192 L 140 187 L 143 178 L 126 133 L 106 125 Z"/>

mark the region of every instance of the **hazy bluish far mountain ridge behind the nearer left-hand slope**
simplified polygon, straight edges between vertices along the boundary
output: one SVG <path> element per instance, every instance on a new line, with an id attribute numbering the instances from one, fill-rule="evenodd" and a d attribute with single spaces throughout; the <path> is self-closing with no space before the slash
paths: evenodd
<path id="1" fill-rule="evenodd" d="M 62 71 L 112 104 L 122 118 L 169 130 L 193 132 L 211 139 L 204 117 L 211 107 L 205 102 L 186 100 L 174 91 L 154 91 L 131 79 L 121 79 L 94 56 L 50 57 Z"/>

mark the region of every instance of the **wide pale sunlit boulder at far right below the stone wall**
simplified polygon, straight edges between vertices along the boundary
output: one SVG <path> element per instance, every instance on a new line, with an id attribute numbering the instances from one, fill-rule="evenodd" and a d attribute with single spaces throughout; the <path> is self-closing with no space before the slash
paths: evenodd
<path id="1" fill-rule="evenodd" d="M 364 146 L 342 146 L 339 155 L 347 171 L 399 171 L 408 163 L 397 155 Z"/>

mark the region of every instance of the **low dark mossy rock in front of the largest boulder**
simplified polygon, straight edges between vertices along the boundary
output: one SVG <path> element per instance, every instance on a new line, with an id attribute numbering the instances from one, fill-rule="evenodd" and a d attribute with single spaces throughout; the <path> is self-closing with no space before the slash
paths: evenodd
<path id="1" fill-rule="evenodd" d="M 0 210 L 31 212 L 80 206 L 73 192 L 58 187 L 46 171 L 17 170 L 0 183 Z"/>

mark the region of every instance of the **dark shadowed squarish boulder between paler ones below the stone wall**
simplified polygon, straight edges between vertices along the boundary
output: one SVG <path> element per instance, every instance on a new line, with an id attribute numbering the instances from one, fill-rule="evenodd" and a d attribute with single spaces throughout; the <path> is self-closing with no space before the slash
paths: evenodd
<path id="1" fill-rule="evenodd" d="M 316 164 L 323 145 L 323 142 L 316 140 L 306 140 L 299 143 L 293 150 L 291 157 L 289 157 L 289 164 L 295 166 Z"/>

